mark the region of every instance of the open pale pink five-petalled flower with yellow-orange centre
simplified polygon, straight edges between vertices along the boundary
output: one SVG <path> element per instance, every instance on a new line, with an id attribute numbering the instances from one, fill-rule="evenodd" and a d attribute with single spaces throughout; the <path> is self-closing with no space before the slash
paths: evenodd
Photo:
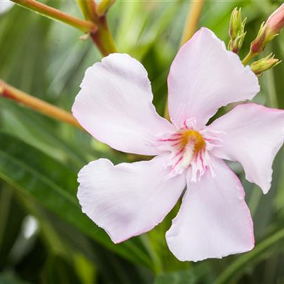
<path id="1" fill-rule="evenodd" d="M 166 234 L 180 261 L 253 249 L 244 188 L 223 159 L 241 163 L 247 180 L 268 192 L 284 111 L 240 104 L 207 126 L 219 107 L 259 91 L 256 75 L 207 28 L 180 49 L 168 90 L 173 124 L 155 111 L 151 83 L 137 60 L 112 54 L 89 67 L 72 107 L 80 124 L 116 150 L 157 157 L 86 165 L 77 195 L 82 211 L 119 243 L 162 222 L 187 185 Z"/>

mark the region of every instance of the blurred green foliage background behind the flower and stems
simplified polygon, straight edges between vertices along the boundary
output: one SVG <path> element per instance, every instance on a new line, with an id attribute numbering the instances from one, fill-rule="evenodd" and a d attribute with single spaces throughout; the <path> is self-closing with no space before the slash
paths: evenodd
<path id="1" fill-rule="evenodd" d="M 0 6 L 1 6 L 0 0 Z M 82 17 L 76 1 L 43 1 Z M 154 103 L 163 115 L 167 76 L 178 51 L 191 1 L 116 1 L 108 19 L 119 52 L 146 67 Z M 231 11 L 241 7 L 249 51 L 263 21 L 282 1 L 205 1 L 199 26 L 226 44 Z M 70 111 L 89 65 L 102 56 L 80 31 L 13 6 L 0 14 L 0 78 Z M 284 32 L 265 55 L 284 58 Z M 264 55 L 264 54 L 263 54 Z M 255 101 L 284 109 L 284 62 L 261 78 Z M 220 113 L 227 111 L 222 109 Z M 222 260 L 182 263 L 168 250 L 165 231 L 178 207 L 148 234 L 114 245 L 77 202 L 77 172 L 90 160 L 114 163 L 133 157 L 114 153 L 75 127 L 0 98 L 0 283 L 207 284 L 284 283 L 284 149 L 273 165 L 271 191 L 241 178 L 251 209 L 256 248 Z"/>

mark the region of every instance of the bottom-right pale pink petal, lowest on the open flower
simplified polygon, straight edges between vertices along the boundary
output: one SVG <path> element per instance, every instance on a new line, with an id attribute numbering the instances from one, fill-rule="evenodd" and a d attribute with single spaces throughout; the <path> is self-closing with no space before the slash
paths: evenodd
<path id="1" fill-rule="evenodd" d="M 166 234 L 170 251 L 180 261 L 253 249 L 253 223 L 241 182 L 223 160 L 214 158 L 214 171 L 214 178 L 207 170 L 200 182 L 187 182 L 180 212 Z"/>

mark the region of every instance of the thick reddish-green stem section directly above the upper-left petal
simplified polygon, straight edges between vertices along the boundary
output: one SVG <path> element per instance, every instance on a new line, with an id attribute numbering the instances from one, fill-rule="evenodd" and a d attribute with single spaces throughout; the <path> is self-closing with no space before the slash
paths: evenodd
<path id="1" fill-rule="evenodd" d="M 109 31 L 106 16 L 99 17 L 97 25 L 97 31 L 91 33 L 93 42 L 104 56 L 107 56 L 110 53 L 116 53 L 116 45 L 114 44 L 114 38 L 112 38 L 111 32 Z"/>

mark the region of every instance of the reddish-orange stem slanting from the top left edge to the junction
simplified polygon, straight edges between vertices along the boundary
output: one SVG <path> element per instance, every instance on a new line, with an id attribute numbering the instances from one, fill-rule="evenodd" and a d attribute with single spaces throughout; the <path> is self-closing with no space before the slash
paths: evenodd
<path id="1" fill-rule="evenodd" d="M 70 25 L 74 28 L 78 28 L 79 30 L 84 31 L 85 33 L 95 31 L 97 28 L 97 26 L 90 21 L 84 21 L 81 20 L 80 18 L 75 18 L 73 16 L 68 15 L 67 13 L 63 13 L 58 9 L 54 9 L 50 6 L 47 6 L 35 0 L 11 0 L 11 1 L 15 2 L 20 6 L 23 6 L 26 9 L 30 9 L 32 11 L 35 11 L 36 13 L 40 13 L 41 15 L 47 18 L 67 23 L 67 25 Z"/>

